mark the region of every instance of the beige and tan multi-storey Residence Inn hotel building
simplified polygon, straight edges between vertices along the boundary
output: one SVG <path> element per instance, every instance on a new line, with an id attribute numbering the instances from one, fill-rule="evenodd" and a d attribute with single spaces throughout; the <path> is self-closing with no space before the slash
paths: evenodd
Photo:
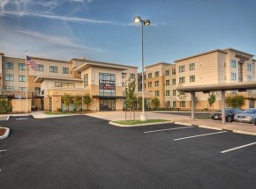
<path id="1" fill-rule="evenodd" d="M 144 73 L 147 105 L 155 97 L 160 100 L 160 107 L 190 109 L 190 94 L 177 91 L 177 87 L 255 81 L 256 60 L 253 56 L 227 48 L 192 55 L 173 63 L 148 65 Z M 27 67 L 28 98 L 32 100 L 33 106 L 41 110 L 56 112 L 64 108 L 64 94 L 72 97 L 89 94 L 93 99 L 90 109 L 94 111 L 123 110 L 125 87 L 131 81 L 136 83 L 136 96 L 141 96 L 142 76 L 137 72 L 138 67 L 86 58 L 74 58 L 68 62 L 39 57 L 32 59 L 37 67 L 35 70 Z M 196 92 L 196 109 L 209 108 L 208 92 Z M 243 108 L 254 107 L 256 93 L 253 90 L 227 91 L 226 96 L 238 93 L 247 99 Z M 7 57 L 0 53 L 0 95 L 9 99 L 19 95 L 26 98 L 25 59 Z M 215 109 L 220 108 L 221 101 L 219 95 Z"/>

